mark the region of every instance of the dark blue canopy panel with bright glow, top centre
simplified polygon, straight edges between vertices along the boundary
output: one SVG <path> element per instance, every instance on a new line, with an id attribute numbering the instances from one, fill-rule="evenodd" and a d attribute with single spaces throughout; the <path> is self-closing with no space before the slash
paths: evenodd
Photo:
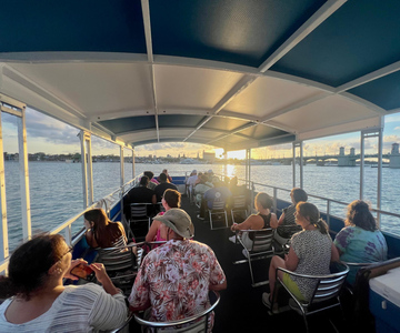
<path id="1" fill-rule="evenodd" d="M 152 0 L 153 51 L 258 67 L 324 2 Z"/>

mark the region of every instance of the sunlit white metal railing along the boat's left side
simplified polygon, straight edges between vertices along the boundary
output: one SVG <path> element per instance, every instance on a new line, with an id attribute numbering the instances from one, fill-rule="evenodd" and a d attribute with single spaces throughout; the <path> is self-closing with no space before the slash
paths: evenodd
<path id="1" fill-rule="evenodd" d="M 100 199 L 98 202 L 93 203 L 92 205 L 88 206 L 82 212 L 78 213 L 77 215 L 72 216 L 71 219 L 67 220 L 62 224 L 58 225 L 56 229 L 50 231 L 50 234 L 62 233 L 64 232 L 66 242 L 70 245 L 76 245 L 79 240 L 83 236 L 86 230 L 81 230 L 78 232 L 77 236 L 72 240 L 72 223 L 80 219 L 87 211 L 90 211 L 94 208 L 102 208 L 109 215 L 111 209 L 122 200 L 123 195 L 138 182 L 142 174 L 133 178 L 129 182 L 124 183 L 122 186 L 118 188 L 117 190 L 112 191 L 110 194 L 106 195 L 103 199 Z M 123 209 L 123 202 L 121 202 L 121 210 Z M 10 258 L 8 256 L 4 259 L 3 262 L 0 263 L 0 274 L 4 274 L 8 268 Z"/>

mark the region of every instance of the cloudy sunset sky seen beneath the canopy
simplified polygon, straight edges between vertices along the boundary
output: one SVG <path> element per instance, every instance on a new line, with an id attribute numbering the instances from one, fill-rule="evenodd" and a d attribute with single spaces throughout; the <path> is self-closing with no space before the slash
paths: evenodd
<path id="1" fill-rule="evenodd" d="M 29 153 L 44 152 L 47 154 L 61 154 L 80 152 L 80 141 L 78 138 L 79 130 L 29 108 L 27 109 L 26 114 Z M 2 130 L 4 152 L 18 152 L 18 130 L 16 117 L 2 113 Z M 390 152 L 391 144 L 394 142 L 400 143 L 400 113 L 394 113 L 384 118 L 383 153 Z M 364 144 L 366 153 L 376 153 L 378 151 L 378 139 L 368 139 Z M 360 150 L 360 132 L 304 141 L 303 154 L 338 154 L 340 147 L 344 147 L 347 154 L 350 152 L 350 148 L 354 148 L 356 153 L 358 153 Z M 152 154 L 157 157 L 166 157 L 167 154 L 170 154 L 172 157 L 177 157 L 180 154 L 182 157 L 184 154 L 189 158 L 196 158 L 198 153 L 202 157 L 202 151 L 216 151 L 216 155 L 218 158 L 220 158 L 223 152 L 222 149 L 216 149 L 211 145 L 172 142 L 137 147 L 136 155 L 147 157 Z M 119 155 L 119 145 L 93 135 L 92 154 Z M 126 149 L 124 155 L 131 155 L 131 151 Z M 291 155 L 291 143 L 251 150 L 251 157 L 253 159 L 289 158 Z M 228 158 L 244 159 L 244 151 L 228 152 Z"/>

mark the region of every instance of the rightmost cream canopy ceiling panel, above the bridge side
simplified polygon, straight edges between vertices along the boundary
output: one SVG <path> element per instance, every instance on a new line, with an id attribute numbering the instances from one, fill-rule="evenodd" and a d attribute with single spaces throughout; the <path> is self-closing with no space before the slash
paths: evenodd
<path id="1" fill-rule="evenodd" d="M 300 133 L 338 124 L 338 119 L 341 119 L 342 123 L 348 123 L 373 117 L 377 117 L 377 112 L 364 105 L 340 95 L 331 95 L 300 108 L 297 112 L 279 115 L 274 120 L 294 128 L 296 132 Z"/>

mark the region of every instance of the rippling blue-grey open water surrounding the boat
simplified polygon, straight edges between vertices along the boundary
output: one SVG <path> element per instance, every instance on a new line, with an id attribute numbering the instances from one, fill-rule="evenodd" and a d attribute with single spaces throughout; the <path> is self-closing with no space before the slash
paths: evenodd
<path id="1" fill-rule="evenodd" d="M 244 165 L 220 164 L 136 164 L 137 174 L 144 170 L 151 170 L 158 174 L 167 168 L 172 175 L 182 175 L 193 169 L 207 171 L 212 169 L 214 173 L 224 173 L 244 179 Z M 377 202 L 377 168 L 366 169 L 364 198 L 373 206 Z M 304 165 L 303 169 L 304 190 L 314 195 L 326 196 L 342 202 L 351 202 L 359 198 L 360 169 Z M 299 185 L 299 167 L 297 167 L 297 180 Z M 382 182 L 382 210 L 397 213 L 400 202 L 400 186 L 398 180 L 400 170 L 383 169 Z M 80 163 L 64 162 L 30 162 L 30 200 L 33 233 L 50 231 L 58 224 L 79 213 L 83 209 L 83 190 Z M 128 182 L 132 178 L 132 165 L 124 165 L 124 178 Z M 112 162 L 93 163 L 93 191 L 94 200 L 110 194 L 119 188 L 120 164 Z M 291 165 L 252 165 L 251 180 L 256 183 L 268 184 L 277 188 L 292 188 Z M 273 194 L 272 189 L 256 184 L 258 191 Z M 10 250 L 14 249 L 22 239 L 21 229 L 21 202 L 19 163 L 6 162 L 6 193 L 7 215 Z M 280 199 L 290 201 L 289 192 L 278 191 Z M 327 203 L 314 198 L 309 201 L 316 203 L 321 211 L 326 211 Z M 331 205 L 331 212 L 344 218 L 346 206 Z M 72 231 L 82 226 L 82 221 L 77 221 Z M 400 219 L 383 216 L 381 229 L 400 235 Z"/>

